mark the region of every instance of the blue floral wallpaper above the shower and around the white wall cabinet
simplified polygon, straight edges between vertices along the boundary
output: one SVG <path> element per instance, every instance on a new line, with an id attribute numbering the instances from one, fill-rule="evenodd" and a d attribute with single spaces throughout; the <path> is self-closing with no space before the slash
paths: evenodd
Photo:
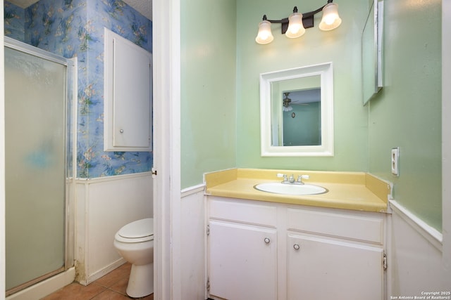
<path id="1" fill-rule="evenodd" d="M 25 10 L 5 2 L 6 36 L 77 57 L 79 178 L 152 168 L 152 152 L 103 151 L 104 27 L 152 52 L 152 21 L 121 0 L 40 0 Z"/>

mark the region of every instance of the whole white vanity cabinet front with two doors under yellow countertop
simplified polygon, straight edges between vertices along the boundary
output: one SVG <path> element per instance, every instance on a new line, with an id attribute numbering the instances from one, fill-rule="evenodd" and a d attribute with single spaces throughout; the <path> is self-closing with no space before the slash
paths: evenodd
<path id="1" fill-rule="evenodd" d="M 211 299 L 384 299 L 384 214 L 208 204 Z"/>

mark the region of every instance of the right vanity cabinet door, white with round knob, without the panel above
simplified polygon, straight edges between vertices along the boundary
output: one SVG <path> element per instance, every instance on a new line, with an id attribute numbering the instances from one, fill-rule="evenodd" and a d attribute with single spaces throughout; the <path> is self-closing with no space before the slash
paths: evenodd
<path id="1" fill-rule="evenodd" d="M 383 299 L 383 249 L 288 234 L 288 299 Z"/>

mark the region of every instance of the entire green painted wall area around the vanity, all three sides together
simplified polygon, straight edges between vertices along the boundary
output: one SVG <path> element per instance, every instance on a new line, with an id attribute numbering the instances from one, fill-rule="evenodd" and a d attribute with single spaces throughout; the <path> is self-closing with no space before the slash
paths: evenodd
<path id="1" fill-rule="evenodd" d="M 368 1 L 338 0 L 342 25 L 288 39 L 254 39 L 261 17 L 287 17 L 319 1 L 182 1 L 182 187 L 230 167 L 370 171 L 394 197 L 441 230 L 441 1 L 385 1 L 384 88 L 362 105 L 361 33 Z M 324 1 L 326 3 L 326 1 Z M 220 32 L 216 34 L 216 32 Z M 334 157 L 261 157 L 259 74 L 332 62 Z M 400 177 L 390 149 L 400 147 Z"/>

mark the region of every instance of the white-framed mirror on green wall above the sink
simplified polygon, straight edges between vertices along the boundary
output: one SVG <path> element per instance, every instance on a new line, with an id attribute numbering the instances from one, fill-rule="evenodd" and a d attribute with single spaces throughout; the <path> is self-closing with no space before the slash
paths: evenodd
<path id="1" fill-rule="evenodd" d="M 332 63 L 260 74 L 261 156 L 333 156 Z"/>

